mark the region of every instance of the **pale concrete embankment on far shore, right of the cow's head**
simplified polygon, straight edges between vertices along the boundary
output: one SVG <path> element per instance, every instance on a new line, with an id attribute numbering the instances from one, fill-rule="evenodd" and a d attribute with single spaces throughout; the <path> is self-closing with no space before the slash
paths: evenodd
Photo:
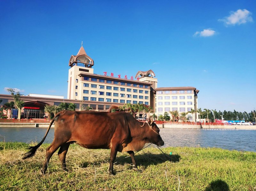
<path id="1" fill-rule="evenodd" d="M 184 128 L 184 129 L 246 129 L 256 130 L 256 126 L 249 125 L 177 125 L 177 124 L 159 124 L 158 127 L 163 128 Z"/>

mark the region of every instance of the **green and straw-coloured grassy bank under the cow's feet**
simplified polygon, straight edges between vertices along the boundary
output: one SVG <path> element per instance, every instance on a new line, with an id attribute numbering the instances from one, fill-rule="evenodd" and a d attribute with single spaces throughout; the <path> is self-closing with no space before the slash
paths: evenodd
<path id="1" fill-rule="evenodd" d="M 32 144 L 34 145 L 34 144 Z M 0 142 L 0 190 L 256 190 L 256 153 L 218 148 L 146 148 L 135 154 L 139 171 L 127 153 L 117 153 L 108 175 L 109 149 L 70 145 L 69 172 L 57 152 L 44 176 L 43 144 L 33 158 L 22 160 L 28 144 Z M 171 155 L 170 155 L 171 152 Z"/>

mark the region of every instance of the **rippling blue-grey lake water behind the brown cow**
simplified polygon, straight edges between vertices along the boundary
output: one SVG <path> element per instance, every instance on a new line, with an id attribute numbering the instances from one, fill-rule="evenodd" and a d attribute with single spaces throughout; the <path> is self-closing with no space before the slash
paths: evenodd
<path id="1" fill-rule="evenodd" d="M 31 127 L 0 127 L 0 141 L 6 142 L 40 142 L 46 128 Z M 160 128 L 160 135 L 164 140 L 163 147 L 216 147 L 228 150 L 244 150 L 256 152 L 255 130 L 230 129 L 172 129 Z M 54 128 L 51 128 L 44 143 L 51 143 Z"/>

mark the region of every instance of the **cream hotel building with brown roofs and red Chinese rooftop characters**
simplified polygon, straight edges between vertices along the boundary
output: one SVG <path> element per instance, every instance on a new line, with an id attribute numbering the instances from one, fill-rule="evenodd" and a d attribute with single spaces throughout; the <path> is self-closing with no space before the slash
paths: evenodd
<path id="1" fill-rule="evenodd" d="M 194 87 L 158 88 L 158 80 L 152 70 L 138 71 L 134 78 L 132 76 L 128 79 L 127 76 L 114 77 L 112 73 L 110 76 L 107 73 L 95 74 L 93 65 L 93 59 L 81 46 L 77 55 L 71 55 L 69 59 L 67 99 L 36 94 L 21 96 L 25 102 L 22 115 L 25 116 L 26 112 L 31 113 L 33 110 L 35 115 L 28 117 L 42 118 L 45 105 L 59 105 L 62 102 L 75 103 L 77 111 L 86 106 L 95 111 L 108 111 L 112 104 L 123 106 L 125 103 L 139 103 L 152 107 L 158 116 L 164 115 L 165 111 L 188 112 L 197 109 L 199 90 Z M 11 95 L 0 95 L 0 99 L 3 100 L 1 107 L 4 103 L 13 101 Z M 196 120 L 196 116 L 193 119 Z"/>

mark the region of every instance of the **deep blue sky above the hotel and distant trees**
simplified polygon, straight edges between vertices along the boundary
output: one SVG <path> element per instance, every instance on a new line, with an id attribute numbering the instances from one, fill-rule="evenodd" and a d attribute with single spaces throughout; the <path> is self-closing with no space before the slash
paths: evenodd
<path id="1" fill-rule="evenodd" d="M 67 97 L 68 61 L 83 47 L 94 73 L 152 69 L 158 87 L 200 90 L 198 107 L 256 109 L 256 3 L 0 1 L 0 94 Z"/>

